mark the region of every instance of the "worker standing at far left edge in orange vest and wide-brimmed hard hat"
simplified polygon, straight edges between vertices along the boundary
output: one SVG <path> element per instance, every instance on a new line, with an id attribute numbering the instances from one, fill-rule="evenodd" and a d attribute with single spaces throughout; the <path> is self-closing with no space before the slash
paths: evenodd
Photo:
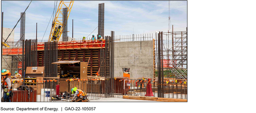
<path id="1" fill-rule="evenodd" d="M 1 72 L 2 76 L 4 77 L 4 81 L 2 83 L 2 88 L 4 89 L 4 101 L 3 102 L 11 102 L 10 100 L 10 95 L 12 91 L 12 86 L 11 86 L 11 73 L 9 70 L 3 69 Z"/>

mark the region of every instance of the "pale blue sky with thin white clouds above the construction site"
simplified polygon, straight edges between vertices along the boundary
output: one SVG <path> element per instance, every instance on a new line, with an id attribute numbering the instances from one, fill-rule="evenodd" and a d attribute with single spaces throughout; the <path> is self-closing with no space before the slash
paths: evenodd
<path id="1" fill-rule="evenodd" d="M 30 1 L 2 1 L 4 27 L 13 28 Z M 68 20 L 68 36 L 72 37 L 72 19 L 74 20 L 74 38 L 88 36 L 98 26 L 98 4 L 105 3 L 105 32 L 115 31 L 115 35 L 155 33 L 168 30 L 169 1 L 74 1 Z M 59 2 L 58 2 L 59 4 Z M 26 39 L 42 39 L 52 16 L 54 1 L 32 1 L 26 11 Z M 174 31 L 184 31 L 187 27 L 187 1 L 170 1 L 171 24 Z M 44 40 L 48 39 L 51 23 L 46 30 Z M 134 31 L 133 31 L 134 29 Z M 97 34 L 96 29 L 92 34 Z M 91 35 L 92 35 L 91 34 Z M 20 38 L 20 23 L 15 28 L 15 41 Z"/>

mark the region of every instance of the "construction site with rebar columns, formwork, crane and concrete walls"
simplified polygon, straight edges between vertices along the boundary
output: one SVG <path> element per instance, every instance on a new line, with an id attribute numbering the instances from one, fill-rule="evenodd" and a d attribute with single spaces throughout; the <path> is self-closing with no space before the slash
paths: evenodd
<path id="1" fill-rule="evenodd" d="M 3 70 L 8 70 L 11 102 L 76 102 L 74 89 L 85 93 L 82 102 L 187 102 L 187 27 L 177 31 L 169 24 L 167 32 L 106 33 L 106 3 L 99 3 L 93 6 L 98 7 L 97 34 L 74 37 L 73 26 L 68 27 L 74 2 L 56 2 L 45 40 L 37 34 L 33 39 L 25 37 L 29 4 L 20 11 L 20 20 L 15 20 L 20 24 L 18 41 L 13 31 L 17 24 L 4 28 L 2 12 L 1 80 L 5 82 Z M 2 88 L 1 102 L 4 92 Z"/>

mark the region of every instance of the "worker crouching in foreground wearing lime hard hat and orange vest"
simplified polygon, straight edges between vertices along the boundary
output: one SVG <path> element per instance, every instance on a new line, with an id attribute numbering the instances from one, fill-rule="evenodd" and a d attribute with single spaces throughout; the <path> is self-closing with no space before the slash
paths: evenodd
<path id="1" fill-rule="evenodd" d="M 85 93 L 85 91 L 74 87 L 71 89 L 71 92 L 72 94 L 75 93 L 71 102 L 90 102 L 89 99 L 87 99 L 87 94 Z"/>

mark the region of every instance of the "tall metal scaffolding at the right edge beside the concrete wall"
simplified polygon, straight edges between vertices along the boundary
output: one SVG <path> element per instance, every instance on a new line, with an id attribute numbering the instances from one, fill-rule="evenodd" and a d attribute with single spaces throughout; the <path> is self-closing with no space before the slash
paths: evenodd
<path id="1" fill-rule="evenodd" d="M 158 33 L 156 33 L 157 35 Z M 163 34 L 163 75 L 176 79 L 187 79 L 187 30 L 162 32 Z M 164 39 L 165 38 L 165 39 Z M 157 39 L 156 39 L 157 40 Z M 156 45 L 158 45 L 156 43 Z M 155 52 L 158 53 L 158 46 Z M 158 54 L 156 54 L 157 56 Z M 158 60 L 156 60 L 158 61 Z M 160 63 L 159 61 L 156 64 Z"/>

